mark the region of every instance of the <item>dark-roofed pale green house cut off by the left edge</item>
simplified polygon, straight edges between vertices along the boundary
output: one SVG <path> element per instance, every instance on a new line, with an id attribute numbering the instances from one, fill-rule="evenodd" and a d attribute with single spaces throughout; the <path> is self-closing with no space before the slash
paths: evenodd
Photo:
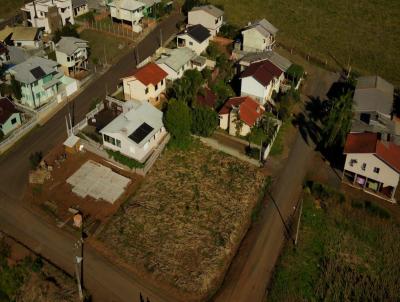
<path id="1" fill-rule="evenodd" d="M 21 111 L 8 98 L 0 98 L 0 131 L 3 135 L 21 126 Z"/>

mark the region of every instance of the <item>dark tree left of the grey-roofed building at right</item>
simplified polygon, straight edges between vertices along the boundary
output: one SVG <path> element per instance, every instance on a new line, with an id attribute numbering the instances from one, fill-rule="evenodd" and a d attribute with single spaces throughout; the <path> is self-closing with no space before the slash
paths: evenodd
<path id="1" fill-rule="evenodd" d="M 347 92 L 331 101 L 331 110 L 323 121 L 322 146 L 343 147 L 353 119 L 353 98 Z"/>

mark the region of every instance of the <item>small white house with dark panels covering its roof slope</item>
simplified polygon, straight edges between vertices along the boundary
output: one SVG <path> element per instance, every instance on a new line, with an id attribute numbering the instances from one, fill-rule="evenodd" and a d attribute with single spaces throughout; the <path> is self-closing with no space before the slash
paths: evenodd
<path id="1" fill-rule="evenodd" d="M 201 24 L 189 26 L 176 37 L 177 47 L 187 47 L 198 55 L 210 45 L 210 31 Z"/>

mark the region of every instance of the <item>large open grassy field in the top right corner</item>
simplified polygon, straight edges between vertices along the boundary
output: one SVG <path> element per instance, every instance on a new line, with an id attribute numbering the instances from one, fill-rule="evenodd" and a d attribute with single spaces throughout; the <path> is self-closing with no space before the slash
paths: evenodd
<path id="1" fill-rule="evenodd" d="M 244 26 L 266 18 L 278 29 L 278 42 L 329 65 L 334 56 L 361 73 L 400 85 L 399 12 L 396 0 L 210 0 L 224 6 L 228 21 Z"/>

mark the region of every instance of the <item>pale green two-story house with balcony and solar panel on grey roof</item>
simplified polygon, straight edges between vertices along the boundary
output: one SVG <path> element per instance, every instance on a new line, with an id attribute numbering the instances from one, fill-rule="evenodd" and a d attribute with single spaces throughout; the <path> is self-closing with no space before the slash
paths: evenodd
<path id="1" fill-rule="evenodd" d="M 7 71 L 21 87 L 22 105 L 37 109 L 50 101 L 62 102 L 78 90 L 78 82 L 64 75 L 57 62 L 30 57 Z"/>

